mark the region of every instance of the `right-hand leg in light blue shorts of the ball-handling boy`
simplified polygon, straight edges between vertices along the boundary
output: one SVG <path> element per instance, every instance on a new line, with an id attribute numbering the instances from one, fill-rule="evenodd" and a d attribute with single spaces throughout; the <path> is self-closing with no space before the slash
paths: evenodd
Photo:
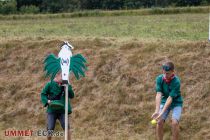
<path id="1" fill-rule="evenodd" d="M 182 107 L 173 108 L 172 112 L 172 140 L 178 140 L 179 137 L 179 120 L 182 114 Z"/>

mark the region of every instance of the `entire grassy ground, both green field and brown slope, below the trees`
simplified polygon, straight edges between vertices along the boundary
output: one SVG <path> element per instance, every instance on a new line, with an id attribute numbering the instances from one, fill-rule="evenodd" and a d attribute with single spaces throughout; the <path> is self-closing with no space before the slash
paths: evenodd
<path id="1" fill-rule="evenodd" d="M 210 139 L 208 14 L 0 20 L 0 139 L 6 129 L 44 130 L 43 60 L 62 40 L 88 60 L 86 78 L 71 79 L 75 140 L 154 140 L 155 77 L 172 60 L 182 81 L 180 140 Z M 57 129 L 60 130 L 57 123 Z M 164 140 L 169 140 L 170 121 Z M 59 139 L 59 138 L 56 138 Z M 63 139 L 63 138 L 60 138 Z"/>

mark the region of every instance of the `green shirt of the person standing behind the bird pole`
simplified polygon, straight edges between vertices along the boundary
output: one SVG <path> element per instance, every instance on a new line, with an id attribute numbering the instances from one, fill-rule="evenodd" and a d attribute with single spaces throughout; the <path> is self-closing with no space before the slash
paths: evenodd
<path id="1" fill-rule="evenodd" d="M 45 87 L 42 89 L 41 92 L 41 102 L 43 103 L 44 106 L 47 105 L 47 101 L 49 99 L 52 99 L 56 97 L 57 95 L 61 94 L 63 91 L 63 87 L 60 86 L 58 83 L 55 81 L 50 81 L 48 82 Z M 71 85 L 68 85 L 68 97 L 69 98 L 74 98 L 74 92 L 72 90 Z M 65 103 L 65 95 L 61 94 L 60 100 Z M 53 109 L 50 106 L 47 107 L 47 112 L 48 113 L 65 113 L 65 106 L 62 109 Z M 70 100 L 68 102 L 68 113 L 70 114 L 72 112 L 71 109 L 71 104 Z"/>

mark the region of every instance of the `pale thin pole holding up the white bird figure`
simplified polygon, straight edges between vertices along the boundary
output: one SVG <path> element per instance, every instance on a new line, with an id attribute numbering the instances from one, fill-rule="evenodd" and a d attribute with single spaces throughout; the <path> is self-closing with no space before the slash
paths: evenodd
<path id="1" fill-rule="evenodd" d="M 65 140 L 68 140 L 68 84 L 65 84 Z"/>

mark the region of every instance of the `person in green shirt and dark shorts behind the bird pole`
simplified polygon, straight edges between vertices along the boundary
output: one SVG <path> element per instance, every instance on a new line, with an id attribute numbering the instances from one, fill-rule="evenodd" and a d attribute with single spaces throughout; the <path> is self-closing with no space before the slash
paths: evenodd
<path id="1" fill-rule="evenodd" d="M 53 81 L 48 82 L 41 92 L 41 101 L 45 107 L 47 107 L 47 139 L 51 140 L 51 135 L 55 128 L 56 120 L 60 121 L 61 127 L 65 129 L 65 94 L 64 87 L 62 86 L 61 72 L 56 75 Z M 69 98 L 74 98 L 74 92 L 71 85 L 68 85 Z M 59 103 L 60 107 L 53 106 L 53 103 Z M 71 105 L 68 103 L 68 114 L 70 114 Z M 69 127 L 69 126 L 68 126 Z M 70 127 L 68 130 L 68 139 L 71 140 Z"/>

